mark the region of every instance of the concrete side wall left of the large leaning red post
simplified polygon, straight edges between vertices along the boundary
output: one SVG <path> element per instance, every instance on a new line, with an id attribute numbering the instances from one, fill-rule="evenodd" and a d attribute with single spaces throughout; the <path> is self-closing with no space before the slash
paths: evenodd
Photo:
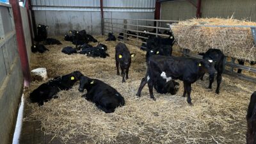
<path id="1" fill-rule="evenodd" d="M 19 107 L 23 76 L 10 5 L 0 3 L 0 143 L 9 143 Z M 4 33 L 3 33 L 4 31 Z"/>

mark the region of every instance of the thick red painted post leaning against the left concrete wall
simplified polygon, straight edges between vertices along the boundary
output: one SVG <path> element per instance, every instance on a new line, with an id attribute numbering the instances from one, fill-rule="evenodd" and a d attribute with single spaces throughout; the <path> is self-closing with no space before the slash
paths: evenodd
<path id="1" fill-rule="evenodd" d="M 22 73 L 24 76 L 24 86 L 28 87 L 30 85 L 31 76 L 29 70 L 26 42 L 22 26 L 22 19 L 20 15 L 20 6 L 17 0 L 10 0 L 10 4 L 12 4 L 13 19 L 15 22 L 15 30 L 18 42 L 18 51 L 20 56 Z"/>

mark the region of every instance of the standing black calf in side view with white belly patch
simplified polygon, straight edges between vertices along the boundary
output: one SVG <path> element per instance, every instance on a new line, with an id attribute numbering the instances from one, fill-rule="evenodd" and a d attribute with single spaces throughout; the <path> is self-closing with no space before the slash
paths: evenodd
<path id="1" fill-rule="evenodd" d="M 195 60 L 191 58 L 160 56 L 154 55 L 148 58 L 147 74 L 141 80 L 137 96 L 140 97 L 141 90 L 148 83 L 150 98 L 154 99 L 153 86 L 156 82 L 155 77 L 161 77 L 166 82 L 172 79 L 180 79 L 184 83 L 183 97 L 188 95 L 188 103 L 191 102 L 191 84 L 195 83 L 205 72 L 210 75 L 214 74 L 214 64 L 209 60 Z"/>

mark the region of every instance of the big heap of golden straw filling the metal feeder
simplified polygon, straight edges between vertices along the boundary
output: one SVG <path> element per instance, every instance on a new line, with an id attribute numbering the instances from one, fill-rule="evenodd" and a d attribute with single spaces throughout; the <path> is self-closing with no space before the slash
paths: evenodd
<path id="1" fill-rule="evenodd" d="M 256 26 L 256 22 L 236 19 L 189 19 L 179 22 L 172 30 L 180 47 L 195 52 L 220 49 L 226 56 L 255 61 L 256 47 L 250 28 L 210 28 L 211 26 Z"/>

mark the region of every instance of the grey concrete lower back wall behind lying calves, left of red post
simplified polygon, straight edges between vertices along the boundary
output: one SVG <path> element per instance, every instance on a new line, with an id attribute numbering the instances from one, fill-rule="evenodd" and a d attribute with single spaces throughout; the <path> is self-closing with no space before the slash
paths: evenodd
<path id="1" fill-rule="evenodd" d="M 70 29 L 82 30 L 99 35 L 101 33 L 100 12 L 87 11 L 35 11 L 36 25 L 49 26 L 48 35 L 64 35 Z"/>

